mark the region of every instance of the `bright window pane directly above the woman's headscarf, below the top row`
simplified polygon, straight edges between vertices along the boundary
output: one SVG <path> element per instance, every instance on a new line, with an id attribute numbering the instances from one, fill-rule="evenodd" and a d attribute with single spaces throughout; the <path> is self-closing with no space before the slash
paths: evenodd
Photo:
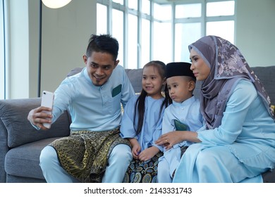
<path id="1" fill-rule="evenodd" d="M 234 21 L 216 21 L 207 23 L 207 35 L 215 35 L 234 43 Z"/>

